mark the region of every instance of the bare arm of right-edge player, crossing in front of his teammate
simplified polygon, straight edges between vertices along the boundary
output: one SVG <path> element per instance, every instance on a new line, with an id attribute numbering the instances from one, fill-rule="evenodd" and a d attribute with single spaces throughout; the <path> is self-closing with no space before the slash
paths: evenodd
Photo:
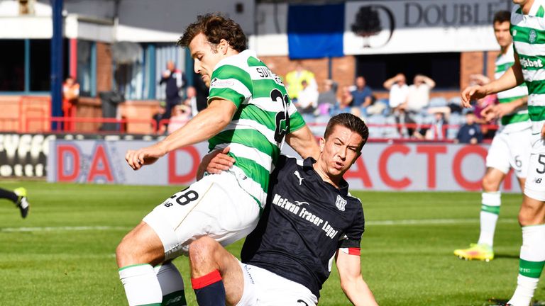
<path id="1" fill-rule="evenodd" d="M 462 106 L 470 108 L 470 101 L 475 99 L 484 98 L 489 94 L 497 94 L 500 91 L 506 91 L 512 89 L 514 86 L 518 86 L 524 82 L 522 77 L 522 70 L 520 67 L 520 61 L 518 55 L 514 54 L 514 64 L 512 67 L 495 81 L 492 81 L 486 85 L 473 85 L 468 86 L 462 91 Z"/>

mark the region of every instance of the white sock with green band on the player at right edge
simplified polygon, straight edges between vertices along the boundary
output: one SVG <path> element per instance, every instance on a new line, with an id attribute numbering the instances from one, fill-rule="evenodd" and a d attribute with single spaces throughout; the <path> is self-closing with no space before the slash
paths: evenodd
<path id="1" fill-rule="evenodd" d="M 517 290 L 509 300 L 513 306 L 528 306 L 545 263 L 545 225 L 522 227 Z"/>

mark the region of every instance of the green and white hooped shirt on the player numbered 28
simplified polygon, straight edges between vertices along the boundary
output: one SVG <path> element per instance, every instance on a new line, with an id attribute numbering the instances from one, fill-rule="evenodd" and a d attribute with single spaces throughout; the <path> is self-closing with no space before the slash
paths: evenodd
<path id="1" fill-rule="evenodd" d="M 269 176 L 285 136 L 304 126 L 284 84 L 268 67 L 244 50 L 221 60 L 212 72 L 208 101 L 222 98 L 235 104 L 231 123 L 209 140 L 209 150 L 230 147 L 238 183 L 263 208 Z"/>

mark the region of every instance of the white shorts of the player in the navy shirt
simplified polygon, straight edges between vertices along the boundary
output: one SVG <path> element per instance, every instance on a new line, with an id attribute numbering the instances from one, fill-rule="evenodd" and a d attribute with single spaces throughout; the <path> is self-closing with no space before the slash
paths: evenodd
<path id="1" fill-rule="evenodd" d="M 309 288 L 257 266 L 241 263 L 244 292 L 236 306 L 315 306 Z"/>

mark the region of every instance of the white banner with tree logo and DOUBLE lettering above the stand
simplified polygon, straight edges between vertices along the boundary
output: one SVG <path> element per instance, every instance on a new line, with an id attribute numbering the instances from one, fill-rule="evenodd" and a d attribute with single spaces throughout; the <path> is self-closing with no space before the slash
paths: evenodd
<path id="1" fill-rule="evenodd" d="M 511 0 L 348 1 L 346 55 L 497 50 L 494 13 Z"/>

